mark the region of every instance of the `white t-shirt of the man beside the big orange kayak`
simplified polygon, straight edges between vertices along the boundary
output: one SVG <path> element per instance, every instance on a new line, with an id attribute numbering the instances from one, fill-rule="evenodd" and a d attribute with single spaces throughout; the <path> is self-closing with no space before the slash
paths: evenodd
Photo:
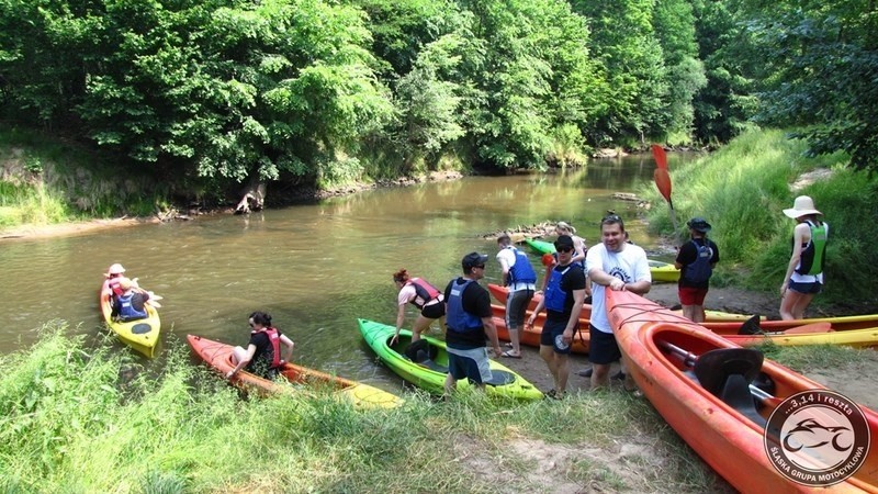
<path id="1" fill-rule="evenodd" d="M 592 246 L 585 255 L 585 270 L 590 272 L 596 268 L 626 283 L 652 282 L 646 252 L 635 245 L 624 244 L 621 252 L 607 250 L 604 243 Z M 605 290 L 608 290 L 608 287 L 592 283 L 592 319 L 589 322 L 597 330 L 612 333 L 612 326 L 607 317 Z"/>

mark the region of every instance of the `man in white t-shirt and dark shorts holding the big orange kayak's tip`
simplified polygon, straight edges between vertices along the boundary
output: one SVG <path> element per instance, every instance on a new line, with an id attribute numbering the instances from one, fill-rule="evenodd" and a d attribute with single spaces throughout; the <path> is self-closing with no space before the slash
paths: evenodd
<path id="1" fill-rule="evenodd" d="M 643 295 L 652 287 L 652 274 L 646 252 L 624 240 L 624 222 L 618 214 L 609 214 L 600 221 L 600 244 L 588 249 L 585 266 L 592 280 L 588 360 L 593 369 L 592 390 L 598 390 L 609 384 L 610 366 L 622 358 L 607 314 L 606 290 L 628 290 Z M 624 361 L 622 364 L 626 367 Z M 624 374 L 624 388 L 635 389 L 630 373 Z"/>

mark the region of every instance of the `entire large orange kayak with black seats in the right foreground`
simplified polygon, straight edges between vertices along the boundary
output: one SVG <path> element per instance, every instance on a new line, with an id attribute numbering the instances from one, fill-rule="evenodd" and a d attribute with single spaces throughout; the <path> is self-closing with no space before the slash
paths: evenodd
<path id="1" fill-rule="evenodd" d="M 878 492 L 878 448 L 863 446 L 878 437 L 875 412 L 853 403 L 843 408 L 826 397 L 841 395 L 819 383 L 755 349 L 679 324 L 669 311 L 633 293 L 607 291 L 607 306 L 640 390 L 735 489 L 810 492 L 808 482 L 854 472 L 821 491 Z M 769 385 L 752 385 L 758 383 Z M 841 462 L 834 463 L 836 457 Z"/>

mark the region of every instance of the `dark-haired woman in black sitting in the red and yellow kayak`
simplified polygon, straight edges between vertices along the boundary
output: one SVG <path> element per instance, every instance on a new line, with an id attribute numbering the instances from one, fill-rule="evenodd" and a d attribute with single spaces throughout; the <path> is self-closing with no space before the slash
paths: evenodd
<path id="1" fill-rule="evenodd" d="M 239 370 L 246 369 L 263 378 L 274 379 L 279 369 L 292 358 L 295 344 L 271 326 L 271 316 L 264 312 L 254 312 L 248 323 L 250 341 L 246 350 L 241 347 L 232 350 L 235 368 L 228 371 L 226 378 L 232 379 Z M 283 356 L 281 356 L 281 345 L 284 347 Z"/>

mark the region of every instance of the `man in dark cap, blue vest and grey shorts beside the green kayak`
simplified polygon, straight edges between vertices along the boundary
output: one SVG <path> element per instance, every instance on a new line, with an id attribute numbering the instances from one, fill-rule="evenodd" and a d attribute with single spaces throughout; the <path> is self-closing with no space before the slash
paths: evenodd
<path id="1" fill-rule="evenodd" d="M 491 295 L 479 284 L 485 277 L 487 256 L 470 252 L 461 260 L 463 276 L 448 282 L 446 287 L 446 349 L 448 350 L 448 375 L 446 394 L 451 395 L 458 380 L 469 379 L 480 389 L 493 375 L 485 349 L 485 339 L 491 340 L 494 355 L 500 355 L 497 328 L 491 311 Z"/>

